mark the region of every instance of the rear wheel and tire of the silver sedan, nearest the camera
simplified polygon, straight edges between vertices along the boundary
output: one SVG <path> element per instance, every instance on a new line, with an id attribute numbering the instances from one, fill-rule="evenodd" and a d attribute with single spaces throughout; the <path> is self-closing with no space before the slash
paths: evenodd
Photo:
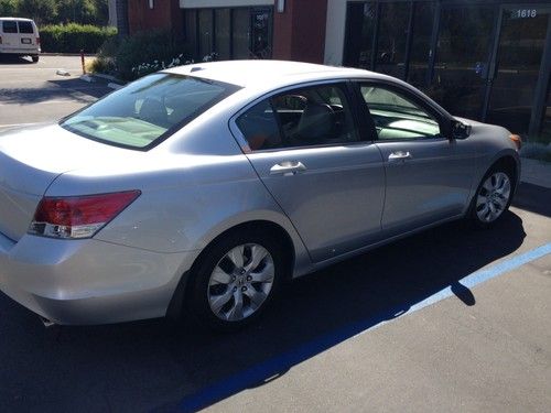
<path id="1" fill-rule="evenodd" d="M 228 233 L 209 246 L 192 269 L 188 309 L 206 329 L 240 329 L 268 309 L 284 272 L 284 254 L 276 238 L 256 230 Z"/>

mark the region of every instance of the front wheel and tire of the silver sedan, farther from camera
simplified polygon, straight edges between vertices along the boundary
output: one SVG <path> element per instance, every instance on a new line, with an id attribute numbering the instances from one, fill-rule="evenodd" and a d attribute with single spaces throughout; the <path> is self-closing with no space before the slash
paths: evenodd
<path id="1" fill-rule="evenodd" d="M 514 178 L 503 166 L 490 169 L 482 178 L 471 202 L 468 221 L 476 228 L 490 228 L 503 218 L 514 194 Z"/>

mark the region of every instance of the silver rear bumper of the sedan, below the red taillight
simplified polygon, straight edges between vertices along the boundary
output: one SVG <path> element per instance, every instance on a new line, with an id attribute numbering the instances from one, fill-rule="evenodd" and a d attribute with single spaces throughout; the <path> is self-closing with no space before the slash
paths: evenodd
<path id="1" fill-rule="evenodd" d="M 0 290 L 56 324 L 161 317 L 197 253 L 0 233 Z"/>

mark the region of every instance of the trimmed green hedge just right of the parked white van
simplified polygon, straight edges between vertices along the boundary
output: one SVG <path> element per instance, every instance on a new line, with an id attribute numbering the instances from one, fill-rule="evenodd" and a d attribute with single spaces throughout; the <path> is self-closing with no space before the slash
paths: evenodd
<path id="1" fill-rule="evenodd" d="M 41 46 L 53 53 L 96 53 L 109 39 L 117 35 L 115 28 L 98 28 L 90 24 L 56 24 L 40 29 Z"/>

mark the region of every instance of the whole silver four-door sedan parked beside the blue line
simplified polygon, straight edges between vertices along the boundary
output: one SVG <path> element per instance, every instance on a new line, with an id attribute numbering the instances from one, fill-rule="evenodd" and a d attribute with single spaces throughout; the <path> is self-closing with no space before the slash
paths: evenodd
<path id="1" fill-rule="evenodd" d="M 429 227 L 489 227 L 520 140 L 396 78 L 202 63 L 0 135 L 0 289 L 57 324 L 261 315 L 283 282 Z"/>

